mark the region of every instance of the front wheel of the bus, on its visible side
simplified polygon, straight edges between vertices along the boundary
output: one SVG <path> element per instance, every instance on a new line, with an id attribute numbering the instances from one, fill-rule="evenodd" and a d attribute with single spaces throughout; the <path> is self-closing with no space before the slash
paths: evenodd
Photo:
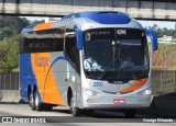
<path id="1" fill-rule="evenodd" d="M 69 99 L 69 108 L 73 116 L 80 116 L 81 110 L 75 106 L 75 98 L 74 94 L 72 94 L 72 98 Z"/>

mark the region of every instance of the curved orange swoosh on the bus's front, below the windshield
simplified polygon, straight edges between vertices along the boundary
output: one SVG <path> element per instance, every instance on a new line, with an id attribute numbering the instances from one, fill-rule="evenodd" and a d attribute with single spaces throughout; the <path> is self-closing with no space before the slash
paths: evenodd
<path id="1" fill-rule="evenodd" d="M 128 93 L 128 92 L 132 92 L 134 90 L 140 89 L 141 87 L 143 87 L 146 83 L 147 79 L 141 79 L 141 80 L 134 80 L 133 84 L 127 89 L 120 90 L 117 93 Z"/>

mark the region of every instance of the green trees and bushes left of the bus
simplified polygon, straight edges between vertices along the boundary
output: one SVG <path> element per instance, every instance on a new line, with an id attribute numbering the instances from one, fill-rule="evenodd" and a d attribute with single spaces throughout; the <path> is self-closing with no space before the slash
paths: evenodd
<path id="1" fill-rule="evenodd" d="M 0 72 L 19 71 L 19 45 L 22 28 L 44 21 L 28 21 L 19 16 L 0 16 Z"/>

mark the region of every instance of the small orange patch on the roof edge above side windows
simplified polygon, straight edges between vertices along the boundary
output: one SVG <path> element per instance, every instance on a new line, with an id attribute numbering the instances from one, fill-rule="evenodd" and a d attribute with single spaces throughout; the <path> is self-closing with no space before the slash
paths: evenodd
<path id="1" fill-rule="evenodd" d="M 50 30 L 53 23 L 54 23 L 54 22 L 37 24 L 37 25 L 34 27 L 34 31 Z"/>

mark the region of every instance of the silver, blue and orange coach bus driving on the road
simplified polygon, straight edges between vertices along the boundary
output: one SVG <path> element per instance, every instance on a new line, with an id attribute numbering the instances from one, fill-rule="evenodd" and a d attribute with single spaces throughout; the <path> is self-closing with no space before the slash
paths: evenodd
<path id="1" fill-rule="evenodd" d="M 33 111 L 67 106 L 80 116 L 120 110 L 134 117 L 153 100 L 150 48 L 157 49 L 156 34 L 117 11 L 73 13 L 26 26 L 20 41 L 20 95 Z"/>

